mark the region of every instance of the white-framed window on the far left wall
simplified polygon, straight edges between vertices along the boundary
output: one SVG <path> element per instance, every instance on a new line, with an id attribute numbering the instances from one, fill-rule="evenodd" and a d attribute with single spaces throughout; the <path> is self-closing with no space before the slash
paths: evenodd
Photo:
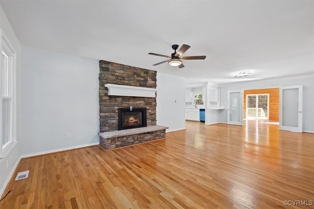
<path id="1" fill-rule="evenodd" d="M 1 130 L 1 146 L 0 158 L 3 158 L 13 147 L 16 141 L 16 105 L 15 105 L 15 62 L 16 53 L 11 44 L 4 36 L 2 30 L 1 35 L 1 59 L 0 59 L 0 130 Z"/>

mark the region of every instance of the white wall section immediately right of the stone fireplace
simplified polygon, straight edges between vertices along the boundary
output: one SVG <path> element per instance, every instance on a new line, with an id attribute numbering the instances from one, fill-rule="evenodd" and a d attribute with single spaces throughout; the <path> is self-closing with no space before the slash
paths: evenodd
<path id="1" fill-rule="evenodd" d="M 157 125 L 185 129 L 185 78 L 157 72 Z"/>

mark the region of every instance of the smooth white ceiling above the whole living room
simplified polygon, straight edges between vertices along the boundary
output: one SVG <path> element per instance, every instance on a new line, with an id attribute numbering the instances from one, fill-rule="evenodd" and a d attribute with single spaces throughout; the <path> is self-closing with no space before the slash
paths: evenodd
<path id="1" fill-rule="evenodd" d="M 0 0 L 23 46 L 218 84 L 314 72 L 313 0 Z M 185 68 L 167 63 L 190 45 Z M 252 70 L 252 75 L 233 74 Z"/>

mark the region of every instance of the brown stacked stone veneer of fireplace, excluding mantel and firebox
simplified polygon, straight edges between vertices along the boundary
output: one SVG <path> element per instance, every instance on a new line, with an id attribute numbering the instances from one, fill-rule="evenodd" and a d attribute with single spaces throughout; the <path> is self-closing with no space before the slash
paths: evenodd
<path id="1" fill-rule="evenodd" d="M 103 60 L 99 61 L 99 68 L 99 115 L 101 132 L 118 130 L 120 107 L 146 107 L 147 126 L 157 124 L 156 97 L 108 96 L 108 89 L 104 86 L 105 84 L 120 84 L 136 87 L 156 88 L 156 71 L 131 67 Z M 165 132 L 165 130 L 163 132 Z M 164 134 L 162 136 L 159 135 L 160 133 L 158 131 L 156 133 L 143 133 L 136 136 L 128 136 L 125 137 L 124 140 L 112 139 L 112 141 L 116 141 L 116 147 L 118 147 L 157 138 L 164 138 Z M 130 137 L 132 137 L 132 139 Z M 110 140 L 110 142 L 103 141 L 103 145 L 113 145 L 111 139 L 106 140 Z M 105 146 L 103 147 L 105 148 Z"/>

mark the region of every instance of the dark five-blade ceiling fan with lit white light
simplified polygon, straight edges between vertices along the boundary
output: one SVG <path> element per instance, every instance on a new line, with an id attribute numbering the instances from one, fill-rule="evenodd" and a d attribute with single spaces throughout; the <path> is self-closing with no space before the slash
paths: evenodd
<path id="1" fill-rule="evenodd" d="M 172 45 L 172 49 L 175 50 L 175 52 L 173 52 L 171 54 L 171 56 L 167 56 L 167 55 L 162 55 L 162 54 L 156 54 L 156 53 L 148 53 L 148 54 L 151 54 L 151 55 L 156 55 L 156 56 L 160 56 L 160 57 L 167 57 L 167 58 L 170 58 L 169 60 L 165 60 L 165 61 L 162 61 L 160 63 L 156 63 L 154 64 L 153 66 L 157 66 L 157 65 L 160 65 L 162 63 L 166 63 L 168 62 L 169 65 L 171 66 L 178 66 L 179 68 L 184 68 L 184 65 L 182 63 L 181 60 L 204 60 L 206 58 L 206 56 L 189 56 L 189 57 L 183 57 L 183 53 L 189 49 L 189 47 L 191 46 L 188 46 L 186 44 L 183 44 L 181 46 L 181 48 L 177 51 L 179 45 L 175 44 L 175 45 Z"/>

